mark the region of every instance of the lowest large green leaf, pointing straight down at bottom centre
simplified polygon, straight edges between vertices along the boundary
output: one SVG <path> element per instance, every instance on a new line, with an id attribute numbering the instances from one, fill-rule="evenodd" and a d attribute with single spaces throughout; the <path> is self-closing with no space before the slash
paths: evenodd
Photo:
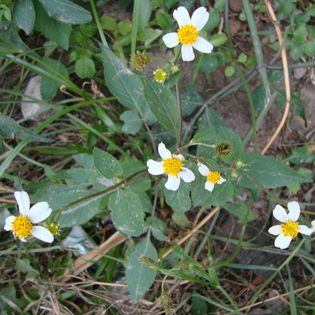
<path id="1" fill-rule="evenodd" d="M 137 244 L 135 250 L 129 255 L 126 265 L 126 278 L 128 290 L 135 302 L 138 302 L 151 287 L 156 277 L 156 270 L 150 269 L 141 262 L 147 257 L 153 262 L 157 260 L 157 252 L 149 238 Z"/>

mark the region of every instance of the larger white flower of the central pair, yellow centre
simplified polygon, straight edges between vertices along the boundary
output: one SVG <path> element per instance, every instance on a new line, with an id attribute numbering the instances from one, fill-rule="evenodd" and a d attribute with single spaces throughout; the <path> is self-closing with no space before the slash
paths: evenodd
<path id="1" fill-rule="evenodd" d="M 175 155 L 166 149 L 163 142 L 158 147 L 159 154 L 163 159 L 162 162 L 149 160 L 147 162 L 148 172 L 152 175 L 166 174 L 168 176 L 165 188 L 176 191 L 180 184 L 180 179 L 186 183 L 195 180 L 194 173 L 184 167 L 184 157 L 181 154 Z"/>

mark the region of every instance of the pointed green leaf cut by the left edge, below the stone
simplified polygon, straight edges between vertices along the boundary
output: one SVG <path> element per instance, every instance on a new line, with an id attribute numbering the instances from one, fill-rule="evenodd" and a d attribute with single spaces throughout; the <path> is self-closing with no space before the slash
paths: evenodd
<path id="1" fill-rule="evenodd" d="M 0 114 L 0 136 L 4 138 L 12 138 L 15 136 L 19 140 L 29 142 L 51 142 L 52 140 L 46 137 L 39 136 L 33 133 L 30 129 L 20 126 L 15 120 L 10 117 Z"/>

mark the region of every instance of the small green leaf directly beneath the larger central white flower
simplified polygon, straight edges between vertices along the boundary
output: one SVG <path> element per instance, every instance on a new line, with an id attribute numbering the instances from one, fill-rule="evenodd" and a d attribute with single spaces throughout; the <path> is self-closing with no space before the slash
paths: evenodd
<path id="1" fill-rule="evenodd" d="M 191 208 L 189 197 L 190 185 L 181 182 L 177 191 L 164 189 L 166 203 L 175 211 L 185 213 Z"/>

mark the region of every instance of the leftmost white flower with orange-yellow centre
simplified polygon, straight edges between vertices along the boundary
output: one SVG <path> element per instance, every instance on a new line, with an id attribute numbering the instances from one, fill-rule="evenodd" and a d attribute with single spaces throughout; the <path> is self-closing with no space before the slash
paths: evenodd
<path id="1" fill-rule="evenodd" d="M 43 226 L 34 225 L 44 221 L 51 214 L 51 209 L 46 201 L 38 202 L 30 208 L 30 198 L 25 191 L 14 193 L 16 202 L 19 206 L 20 215 L 11 215 L 5 220 L 4 229 L 12 231 L 15 237 L 22 242 L 30 236 L 39 240 L 51 243 L 54 240 L 51 232 Z"/>

